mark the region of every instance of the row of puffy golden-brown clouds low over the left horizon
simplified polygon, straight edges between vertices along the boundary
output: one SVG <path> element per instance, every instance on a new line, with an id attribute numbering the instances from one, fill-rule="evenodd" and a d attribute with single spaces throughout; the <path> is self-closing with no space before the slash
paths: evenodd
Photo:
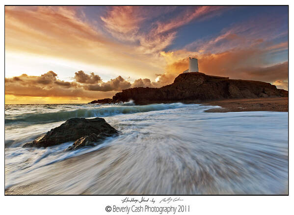
<path id="1" fill-rule="evenodd" d="M 115 93 L 130 87 L 155 86 L 149 79 L 135 80 L 133 85 L 118 76 L 103 82 L 98 75 L 90 75 L 79 71 L 75 73 L 75 81 L 62 81 L 57 74 L 49 71 L 41 76 L 23 74 L 13 78 L 5 78 L 5 103 L 77 103 L 91 100 L 111 98 Z M 33 98 L 35 97 L 35 98 Z M 46 99 L 47 97 L 47 99 Z M 23 98 L 27 98 L 24 100 Z M 30 102 L 29 102 L 30 101 Z"/>

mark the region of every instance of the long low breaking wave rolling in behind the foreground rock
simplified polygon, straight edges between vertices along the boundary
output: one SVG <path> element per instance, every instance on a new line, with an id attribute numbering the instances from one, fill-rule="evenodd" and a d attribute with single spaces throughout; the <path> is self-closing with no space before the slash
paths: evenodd
<path id="1" fill-rule="evenodd" d="M 43 112 L 43 113 L 25 113 L 19 115 L 13 115 L 5 117 L 5 124 L 9 125 L 12 123 L 41 123 L 41 122 L 58 122 L 64 121 L 70 118 L 89 118 L 89 117 L 105 117 L 113 116 L 118 114 L 129 114 L 129 113 L 139 113 L 148 112 L 154 110 L 164 110 L 173 108 L 182 108 L 188 105 L 182 103 L 172 103 L 172 104 L 152 104 L 135 106 L 134 103 L 129 102 L 128 104 L 118 104 L 111 106 L 99 106 L 97 108 L 87 109 L 80 108 L 76 110 L 59 110 L 56 112 Z"/>

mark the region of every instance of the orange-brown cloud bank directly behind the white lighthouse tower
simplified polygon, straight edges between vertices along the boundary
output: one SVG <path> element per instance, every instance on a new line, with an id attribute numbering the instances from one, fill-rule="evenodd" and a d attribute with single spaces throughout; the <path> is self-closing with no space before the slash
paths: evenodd
<path id="1" fill-rule="evenodd" d="M 198 55 L 199 71 L 209 75 L 231 79 L 274 82 L 288 80 L 288 61 L 272 66 L 258 66 L 260 50 L 231 50 L 219 54 Z M 171 83 L 175 77 L 188 68 L 188 58 L 178 60 L 166 67 L 166 73 L 159 76 L 160 85 Z"/>

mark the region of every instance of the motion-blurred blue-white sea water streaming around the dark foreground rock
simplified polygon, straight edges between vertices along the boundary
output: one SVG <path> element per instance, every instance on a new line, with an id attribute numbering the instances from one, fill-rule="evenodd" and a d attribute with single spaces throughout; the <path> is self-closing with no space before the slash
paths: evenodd
<path id="1" fill-rule="evenodd" d="M 8 194 L 288 194 L 288 112 L 205 112 L 198 104 L 5 105 Z M 74 117 L 120 134 L 23 148 Z"/>

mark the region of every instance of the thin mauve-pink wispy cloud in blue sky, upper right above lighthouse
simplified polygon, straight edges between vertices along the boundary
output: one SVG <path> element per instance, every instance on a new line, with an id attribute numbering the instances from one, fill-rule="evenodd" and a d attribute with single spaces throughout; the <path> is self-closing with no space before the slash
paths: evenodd
<path id="1" fill-rule="evenodd" d="M 214 38 L 198 39 L 187 44 L 184 49 L 200 50 L 203 53 L 220 53 L 234 48 L 259 48 L 265 51 L 282 51 L 288 48 L 288 41 L 272 44 L 273 40 L 287 36 L 288 31 L 278 31 L 283 19 L 276 17 L 258 17 L 234 24 L 221 30 Z M 270 25 L 269 25 L 270 24 Z"/>

